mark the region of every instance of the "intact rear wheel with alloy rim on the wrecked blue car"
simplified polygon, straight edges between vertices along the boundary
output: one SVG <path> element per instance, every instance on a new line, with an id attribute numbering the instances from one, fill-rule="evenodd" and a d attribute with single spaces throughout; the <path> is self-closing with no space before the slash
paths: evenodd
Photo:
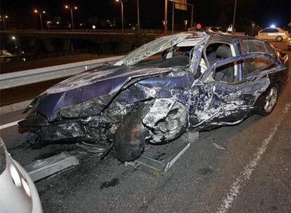
<path id="1" fill-rule="evenodd" d="M 271 114 L 278 102 L 278 87 L 272 85 L 266 90 L 263 100 L 261 101 L 261 106 L 259 106 L 258 114 L 261 116 L 268 116 Z"/>

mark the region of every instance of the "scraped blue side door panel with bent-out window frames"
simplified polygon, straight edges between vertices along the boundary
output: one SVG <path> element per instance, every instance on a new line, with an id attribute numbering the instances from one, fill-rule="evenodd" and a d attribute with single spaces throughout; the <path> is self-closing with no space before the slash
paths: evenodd
<path id="1" fill-rule="evenodd" d="M 243 76 L 243 63 L 253 57 L 264 58 L 273 63 L 271 69 L 266 68 Z M 237 81 L 217 81 L 216 71 L 227 64 L 239 64 L 240 78 Z M 220 60 L 213 64 L 193 85 L 190 97 L 190 128 L 202 129 L 212 125 L 231 125 L 242 121 L 257 98 L 270 85 L 268 74 L 276 71 L 280 64 L 264 53 L 249 53 Z"/>

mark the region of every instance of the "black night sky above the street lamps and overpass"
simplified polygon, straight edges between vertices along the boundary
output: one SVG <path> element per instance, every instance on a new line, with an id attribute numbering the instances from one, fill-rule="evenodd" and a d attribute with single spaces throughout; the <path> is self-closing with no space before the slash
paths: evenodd
<path id="1" fill-rule="evenodd" d="M 127 23 L 136 23 L 136 1 L 124 0 L 124 19 Z M 291 0 L 238 0 L 237 19 L 254 20 L 261 26 L 271 23 L 286 26 L 290 22 Z M 225 13 L 228 23 L 232 22 L 234 0 L 188 0 L 195 4 L 195 22 L 206 25 L 216 25 L 221 13 Z M 1 0 L 2 15 L 16 15 L 18 18 L 36 19 L 34 8 L 44 9 L 47 14 L 45 20 L 60 17 L 69 22 L 70 13 L 65 11 L 64 5 L 78 6 L 75 12 L 75 22 L 87 22 L 89 18 L 112 19 L 120 18 L 120 5 L 115 0 L 95 1 L 61 1 L 61 0 Z M 169 22 L 171 21 L 171 2 L 169 2 Z M 164 19 L 164 0 L 140 0 L 141 27 L 160 28 Z M 176 22 L 190 20 L 189 11 L 176 11 Z M 22 26 L 25 28 L 25 26 Z"/>

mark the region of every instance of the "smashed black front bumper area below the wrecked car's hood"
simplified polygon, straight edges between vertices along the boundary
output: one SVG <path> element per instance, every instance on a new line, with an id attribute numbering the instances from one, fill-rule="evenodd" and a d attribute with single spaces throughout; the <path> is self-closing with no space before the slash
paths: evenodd
<path id="1" fill-rule="evenodd" d="M 76 119 L 62 119 L 50 123 L 44 116 L 28 116 L 18 123 L 20 132 L 28 132 L 30 142 L 98 142 L 112 138 L 112 123 L 103 123 L 95 118 L 89 122 Z"/>

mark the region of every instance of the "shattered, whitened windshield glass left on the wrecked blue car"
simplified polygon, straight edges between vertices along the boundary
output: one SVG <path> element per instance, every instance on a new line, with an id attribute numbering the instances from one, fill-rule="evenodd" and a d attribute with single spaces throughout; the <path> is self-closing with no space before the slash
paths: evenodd
<path id="1" fill-rule="evenodd" d="M 183 34 L 175 34 L 172 36 L 164 36 L 155 41 L 151 41 L 150 43 L 146 43 L 145 45 L 137 48 L 136 50 L 132 51 L 121 60 L 115 63 L 116 66 L 125 65 L 127 67 L 137 64 L 138 62 L 145 62 L 149 59 L 157 59 L 158 57 L 172 57 L 172 55 L 165 55 L 166 50 L 173 48 L 176 50 L 176 45 L 185 41 L 189 37 L 193 37 L 191 33 L 183 33 Z M 189 48 L 194 46 L 188 45 Z M 189 48 L 187 50 L 189 50 Z M 183 48 L 180 48 L 180 51 Z M 189 51 L 188 51 L 189 52 Z M 188 58 L 187 58 L 188 60 Z"/>

